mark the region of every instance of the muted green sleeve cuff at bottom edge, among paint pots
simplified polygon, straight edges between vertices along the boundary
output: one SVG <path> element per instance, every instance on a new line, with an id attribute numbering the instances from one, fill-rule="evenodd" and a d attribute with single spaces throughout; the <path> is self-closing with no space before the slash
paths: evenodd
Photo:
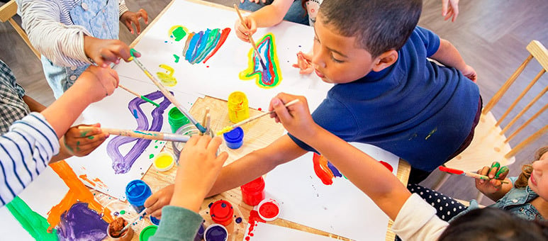
<path id="1" fill-rule="evenodd" d="M 194 211 L 177 206 L 164 206 L 158 230 L 149 240 L 192 241 L 202 222 L 201 215 Z"/>

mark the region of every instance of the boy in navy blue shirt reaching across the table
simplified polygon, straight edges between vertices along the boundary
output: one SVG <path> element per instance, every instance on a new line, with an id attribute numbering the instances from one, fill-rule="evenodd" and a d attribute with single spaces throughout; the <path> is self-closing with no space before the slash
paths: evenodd
<path id="1" fill-rule="evenodd" d="M 335 84 L 312 114 L 314 121 L 348 142 L 376 145 L 406 159 L 413 167 L 411 183 L 469 145 L 481 108 L 472 82 L 476 72 L 451 43 L 416 26 L 421 8 L 420 0 L 323 1 L 310 60 L 324 82 Z M 314 150 L 284 135 L 223 167 L 210 194 L 308 151 Z M 162 189 L 145 206 L 159 214 L 172 190 Z"/>

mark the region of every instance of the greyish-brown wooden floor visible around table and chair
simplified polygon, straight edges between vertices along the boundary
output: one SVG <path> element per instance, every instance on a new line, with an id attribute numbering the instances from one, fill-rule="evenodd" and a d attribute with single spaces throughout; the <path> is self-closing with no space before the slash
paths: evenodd
<path id="1" fill-rule="evenodd" d="M 220 4 L 231 6 L 237 0 L 213 0 Z M 527 57 L 525 46 L 530 40 L 539 40 L 548 46 L 548 2 L 546 0 L 482 0 L 461 1 L 460 14 L 457 22 L 451 23 L 442 20 L 441 1 L 425 0 L 423 16 L 420 26 L 429 28 L 435 33 L 451 41 L 461 52 L 464 60 L 476 69 L 479 76 L 483 100 L 491 99 L 494 92 L 500 88 L 503 82 Z M 139 8 L 146 9 L 152 18 L 157 16 L 169 0 L 133 0 L 126 1 L 128 7 L 134 11 Z M 227 23 L 232 26 L 233 23 Z M 125 43 L 131 43 L 135 36 L 130 35 L 125 27 L 121 26 L 120 39 Z M 40 61 L 33 55 L 23 43 L 19 35 L 11 28 L 9 23 L 0 24 L 0 60 L 8 64 L 15 72 L 18 82 L 25 87 L 27 95 L 37 99 L 45 105 L 54 101 L 52 92 L 43 77 Z M 537 74 L 540 67 L 533 63 L 522 74 L 532 77 Z M 543 77 L 535 89 L 542 89 L 548 83 L 548 77 Z M 517 96 L 525 84 L 513 86 L 510 96 Z M 526 96 L 532 99 L 532 96 Z M 548 103 L 548 96 L 539 100 L 540 103 Z M 499 106 L 493 109 L 496 116 L 501 116 L 510 101 L 501 101 Z M 522 108 L 522 106 L 518 106 Z M 538 107 L 539 108 L 539 107 Z M 537 109 L 538 109 L 537 108 Z M 528 114 L 532 116 L 530 111 Z M 537 119 L 532 123 L 532 128 L 525 130 L 524 135 L 530 135 L 539 127 L 548 123 L 548 115 Z M 442 145 L 442 143 L 440 143 Z M 543 145 L 548 145 L 548 136 L 544 135 L 533 143 L 517 157 L 517 163 L 510 167 L 510 174 L 517 175 L 523 163 L 532 161 L 532 153 Z M 423 182 L 425 186 L 433 183 L 437 173 L 432 174 Z M 468 200 L 474 197 L 476 189 L 473 181 L 461 176 L 452 176 L 447 184 L 442 187 L 444 194 Z M 484 198 L 483 204 L 490 201 Z"/>

